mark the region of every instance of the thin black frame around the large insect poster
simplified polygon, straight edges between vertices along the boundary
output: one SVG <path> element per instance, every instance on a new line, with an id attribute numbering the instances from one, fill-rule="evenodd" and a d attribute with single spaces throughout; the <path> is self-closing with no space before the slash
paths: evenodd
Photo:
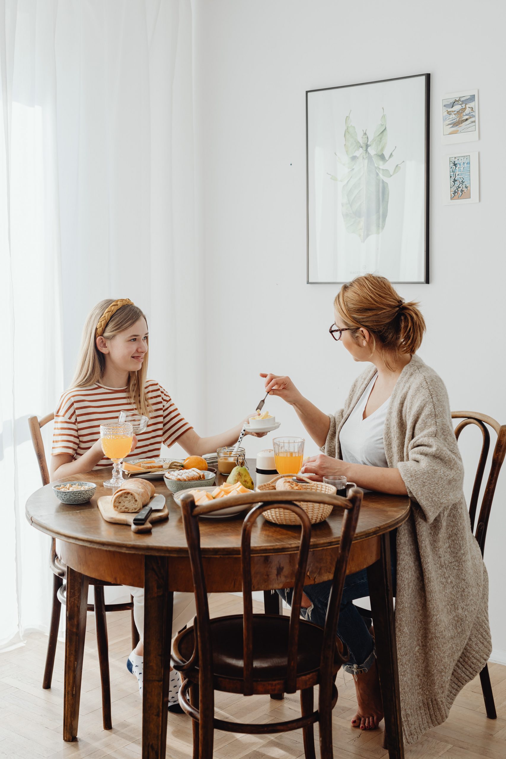
<path id="1" fill-rule="evenodd" d="M 315 90 L 306 90 L 306 282 L 308 285 L 334 284 L 339 285 L 353 279 L 349 276 L 346 279 L 311 279 L 310 276 L 310 96 L 313 93 L 326 93 L 334 90 L 345 90 L 350 87 L 365 87 L 366 85 L 381 85 L 385 83 L 398 82 L 401 80 L 423 79 L 423 252 L 417 253 L 420 263 L 423 261 L 423 275 L 420 279 L 390 279 L 393 284 L 429 284 L 429 159 L 430 159 L 430 74 L 411 74 L 406 77 L 393 77 L 391 79 L 375 80 L 371 82 L 361 82 L 355 84 L 344 84 L 336 87 L 322 87 Z M 386 151 L 385 151 L 386 152 Z M 336 153 L 337 155 L 337 153 Z M 335 177 L 334 177 L 335 178 Z M 387 200 L 388 202 L 388 200 Z M 421 210 L 421 209 L 420 209 Z M 379 232 L 382 234 L 383 229 Z M 378 235 L 378 236 L 379 236 Z M 360 273 L 360 272 L 357 272 Z M 357 273 L 355 276 L 357 276 Z M 363 272 L 365 273 L 365 271 Z M 382 272 L 379 272 L 382 273 Z M 386 276 L 386 275 L 385 275 Z"/>

